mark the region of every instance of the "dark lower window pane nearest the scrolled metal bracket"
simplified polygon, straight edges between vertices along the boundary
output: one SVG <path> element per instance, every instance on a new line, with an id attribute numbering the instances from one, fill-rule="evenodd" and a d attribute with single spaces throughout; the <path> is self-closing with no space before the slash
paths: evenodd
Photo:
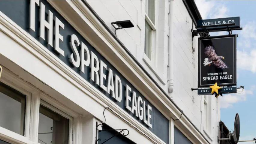
<path id="1" fill-rule="evenodd" d="M 68 144 L 69 120 L 40 105 L 38 143 Z"/>

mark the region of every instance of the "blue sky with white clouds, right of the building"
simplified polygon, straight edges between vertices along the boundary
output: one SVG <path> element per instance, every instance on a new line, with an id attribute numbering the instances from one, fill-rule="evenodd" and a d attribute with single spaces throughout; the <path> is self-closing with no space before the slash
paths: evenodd
<path id="1" fill-rule="evenodd" d="M 256 1 L 195 1 L 203 19 L 240 16 L 243 30 L 237 38 L 237 86 L 242 93 L 221 97 L 221 121 L 233 131 L 236 113 L 240 116 L 240 139 L 256 137 Z M 210 35 L 226 35 L 217 32 Z M 238 91 L 241 91 L 238 90 Z M 239 144 L 252 144 L 240 142 Z"/>

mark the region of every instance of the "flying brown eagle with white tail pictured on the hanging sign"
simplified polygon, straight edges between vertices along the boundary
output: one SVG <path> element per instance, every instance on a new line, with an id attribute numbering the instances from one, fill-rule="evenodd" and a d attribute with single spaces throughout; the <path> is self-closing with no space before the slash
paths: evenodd
<path id="1" fill-rule="evenodd" d="M 207 58 L 204 59 L 203 66 L 210 66 L 211 64 L 213 64 L 217 68 L 228 68 L 227 65 L 221 60 L 221 58 L 224 59 L 224 57 L 218 56 L 213 46 L 206 46 L 204 53 L 207 56 Z"/>

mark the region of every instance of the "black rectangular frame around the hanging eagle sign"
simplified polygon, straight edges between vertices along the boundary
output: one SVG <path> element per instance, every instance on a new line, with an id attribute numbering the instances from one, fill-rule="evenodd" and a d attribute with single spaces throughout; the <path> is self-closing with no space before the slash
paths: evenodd
<path id="1" fill-rule="evenodd" d="M 236 85 L 236 38 L 237 35 L 221 35 L 221 36 L 212 36 L 212 37 L 202 37 L 198 38 L 198 88 L 203 88 L 203 87 L 209 87 L 211 85 L 214 85 L 214 83 L 209 83 L 206 85 L 201 84 L 201 64 L 202 64 L 202 58 L 201 58 L 201 41 L 202 40 L 212 40 L 212 39 L 221 39 L 221 38 L 234 38 L 233 39 L 233 82 L 231 83 L 218 83 L 218 86 L 233 86 Z M 214 71 L 213 71 L 214 73 Z"/>

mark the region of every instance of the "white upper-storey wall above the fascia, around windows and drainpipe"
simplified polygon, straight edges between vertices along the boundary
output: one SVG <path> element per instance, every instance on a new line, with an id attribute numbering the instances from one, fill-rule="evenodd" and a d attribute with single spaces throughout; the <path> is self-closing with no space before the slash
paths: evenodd
<path id="1" fill-rule="evenodd" d="M 156 62 L 146 64 L 144 57 L 145 1 L 87 1 L 105 24 L 114 32 L 111 22 L 131 20 L 134 28 L 116 31 L 117 38 L 126 46 L 137 61 L 168 93 L 168 1 L 156 1 Z M 198 37 L 193 38 L 192 19 L 182 1 L 174 1 L 174 90 L 173 101 L 211 143 L 217 144 L 220 107 L 211 98 L 211 131 L 204 132 L 203 97 L 197 95 Z M 195 27 L 195 26 L 194 26 Z M 195 28 L 194 28 L 195 29 Z M 195 52 L 192 53 L 192 45 Z M 150 65 L 150 66 L 149 66 Z M 153 69 L 153 70 L 152 70 Z"/>

